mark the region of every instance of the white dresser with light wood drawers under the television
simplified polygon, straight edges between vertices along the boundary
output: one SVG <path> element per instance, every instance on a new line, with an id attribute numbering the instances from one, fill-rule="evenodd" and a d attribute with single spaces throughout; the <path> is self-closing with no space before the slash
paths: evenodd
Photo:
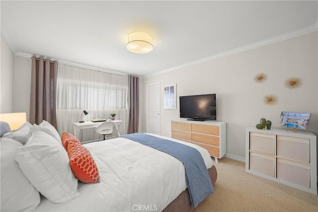
<path id="1" fill-rule="evenodd" d="M 217 121 L 171 120 L 171 137 L 207 149 L 218 162 L 227 151 L 226 123 Z"/>

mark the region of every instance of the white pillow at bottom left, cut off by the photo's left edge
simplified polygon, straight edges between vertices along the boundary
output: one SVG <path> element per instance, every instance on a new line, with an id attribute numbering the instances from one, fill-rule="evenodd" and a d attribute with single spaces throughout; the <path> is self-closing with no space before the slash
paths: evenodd
<path id="1" fill-rule="evenodd" d="M 20 142 L 0 139 L 1 149 L 1 211 L 34 211 L 40 203 L 40 194 L 22 173 L 15 155 Z"/>

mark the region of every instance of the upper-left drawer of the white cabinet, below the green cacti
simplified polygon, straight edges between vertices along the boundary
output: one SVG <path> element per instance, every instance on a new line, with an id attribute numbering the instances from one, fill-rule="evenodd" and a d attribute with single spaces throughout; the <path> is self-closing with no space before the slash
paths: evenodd
<path id="1" fill-rule="evenodd" d="M 249 149 L 266 154 L 275 154 L 276 136 L 261 133 L 249 134 Z"/>

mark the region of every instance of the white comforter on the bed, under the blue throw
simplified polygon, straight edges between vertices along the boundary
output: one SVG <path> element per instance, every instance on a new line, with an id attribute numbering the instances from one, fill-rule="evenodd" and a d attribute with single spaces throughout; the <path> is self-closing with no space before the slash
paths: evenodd
<path id="1" fill-rule="evenodd" d="M 206 149 L 169 140 L 195 147 L 207 168 L 212 167 Z M 43 198 L 37 212 L 162 211 L 187 187 L 183 164 L 166 153 L 124 138 L 84 145 L 95 159 L 100 183 L 79 182 L 81 195 L 69 203 L 54 204 Z"/>

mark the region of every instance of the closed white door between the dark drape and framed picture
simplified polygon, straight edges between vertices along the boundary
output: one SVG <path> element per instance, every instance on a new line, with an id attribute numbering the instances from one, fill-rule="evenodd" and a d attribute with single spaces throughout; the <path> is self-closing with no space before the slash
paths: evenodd
<path id="1" fill-rule="evenodd" d="M 160 83 L 148 85 L 147 133 L 160 135 Z"/>

